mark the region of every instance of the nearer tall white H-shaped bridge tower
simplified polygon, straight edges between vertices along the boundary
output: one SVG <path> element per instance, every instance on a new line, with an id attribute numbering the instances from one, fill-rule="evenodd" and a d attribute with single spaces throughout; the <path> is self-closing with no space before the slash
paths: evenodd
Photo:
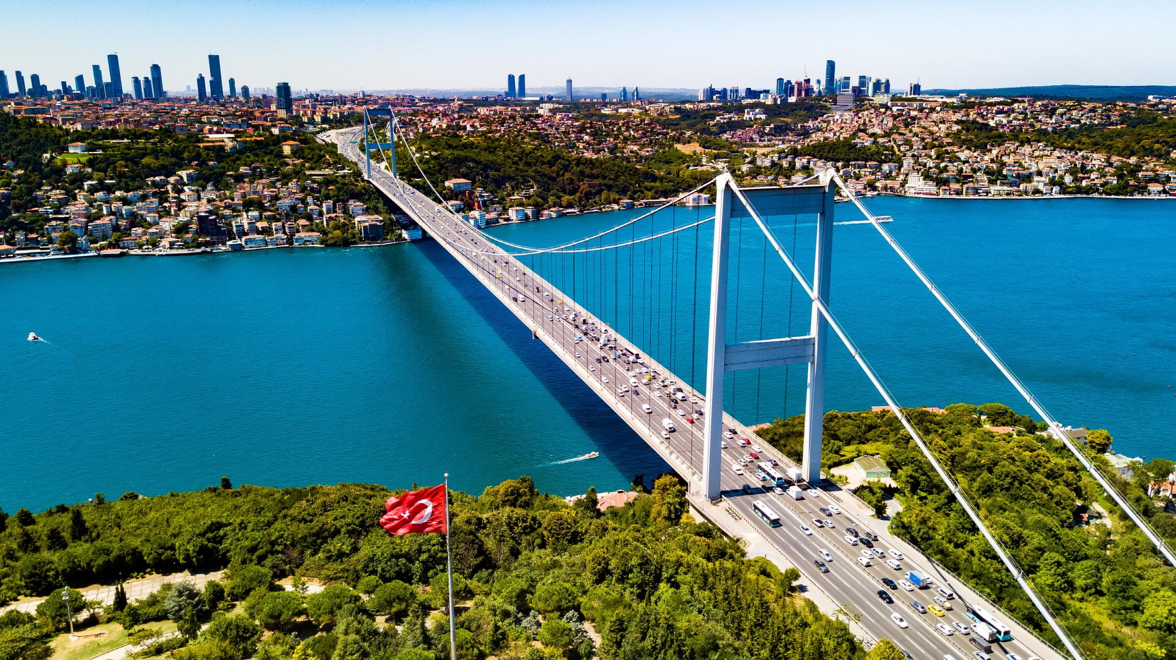
<path id="1" fill-rule="evenodd" d="M 707 344 L 706 441 L 703 447 L 702 487 L 711 501 L 720 496 L 722 475 L 723 375 L 727 372 L 808 365 L 804 400 L 804 453 L 802 473 L 814 484 L 821 479 L 821 434 L 824 419 L 824 360 L 829 322 L 814 300 L 809 333 L 803 336 L 760 339 L 727 344 L 727 284 L 730 256 L 731 218 L 754 218 L 743 198 L 760 216 L 816 214 L 816 253 L 813 264 L 813 294 L 828 306 L 829 274 L 833 259 L 833 200 L 836 187 L 833 173 L 821 175 L 820 184 L 789 188 L 740 188 L 730 174 L 715 181 L 715 234 L 710 271 L 710 318 Z M 767 227 L 761 226 L 767 231 Z"/>

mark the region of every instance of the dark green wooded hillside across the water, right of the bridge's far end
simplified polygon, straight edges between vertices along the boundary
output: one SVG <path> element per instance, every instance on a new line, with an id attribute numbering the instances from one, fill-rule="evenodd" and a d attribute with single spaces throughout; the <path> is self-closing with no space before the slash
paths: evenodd
<path id="1" fill-rule="evenodd" d="M 422 155 L 421 168 L 436 186 L 448 179 L 469 179 L 474 187 L 502 198 L 522 195 L 537 207 L 588 207 L 621 199 L 664 198 L 689 191 L 714 175 L 687 169 L 690 159 L 669 152 L 637 166 L 499 138 L 422 136 L 413 148 Z M 401 153 L 401 175 L 428 192 L 408 153 Z"/>

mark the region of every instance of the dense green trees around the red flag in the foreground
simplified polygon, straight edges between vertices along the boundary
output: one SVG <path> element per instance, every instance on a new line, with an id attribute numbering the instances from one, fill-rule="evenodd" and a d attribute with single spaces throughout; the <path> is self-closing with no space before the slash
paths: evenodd
<path id="1" fill-rule="evenodd" d="M 448 658 L 447 620 L 437 612 L 447 594 L 445 538 L 385 533 L 376 521 L 388 495 L 369 485 L 233 488 L 226 480 L 203 492 L 127 493 L 35 515 L 21 509 L 5 516 L 0 533 L 0 585 L 11 599 L 47 594 L 62 581 L 227 566 L 227 578 L 203 592 L 174 585 L 142 601 L 116 598 L 99 616 L 147 640 L 136 626 L 176 621 L 183 638 L 152 648 L 191 639 L 174 654 L 181 660 Z M 594 492 L 568 506 L 529 478 L 477 498 L 454 493 L 454 591 L 465 604 L 459 658 L 864 655 L 844 622 L 791 593 L 799 572 L 746 558 L 739 542 L 686 509 L 674 476 L 603 514 Z M 313 595 L 274 586 L 288 575 L 295 587 L 310 578 L 330 586 Z M 35 618 L 0 618 L 0 658 L 44 658 L 38 649 L 65 624 L 61 591 L 53 594 Z M 79 611 L 99 609 L 69 595 Z"/>

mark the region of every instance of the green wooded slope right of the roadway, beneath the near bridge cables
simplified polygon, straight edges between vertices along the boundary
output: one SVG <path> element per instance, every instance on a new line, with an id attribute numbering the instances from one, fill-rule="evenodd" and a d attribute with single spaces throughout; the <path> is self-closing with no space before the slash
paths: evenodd
<path id="1" fill-rule="evenodd" d="M 1176 568 L 1163 562 L 1074 455 L 1056 440 L 1037 435 L 1033 419 L 1001 404 L 978 409 L 957 404 L 947 409 L 943 415 L 908 413 L 1087 656 L 1144 660 L 1176 653 Z M 994 434 L 981 428 L 980 414 L 985 415 L 984 424 L 1027 431 Z M 760 435 L 799 460 L 803 416 L 776 420 Z M 881 455 L 897 484 L 893 494 L 902 504 L 890 531 L 1051 636 L 893 413 L 827 413 L 823 453 L 827 467 L 864 454 Z M 1104 458 L 1090 454 L 1110 472 Z M 1150 479 L 1167 478 L 1171 468 L 1171 461 L 1154 459 L 1136 468 L 1132 481 L 1117 481 L 1161 534 L 1176 539 L 1176 519 L 1145 495 Z M 884 511 L 882 488 L 860 488 L 857 494 Z M 1077 514 L 1097 513 L 1096 506 L 1110 518 L 1088 527 L 1076 525 Z"/>

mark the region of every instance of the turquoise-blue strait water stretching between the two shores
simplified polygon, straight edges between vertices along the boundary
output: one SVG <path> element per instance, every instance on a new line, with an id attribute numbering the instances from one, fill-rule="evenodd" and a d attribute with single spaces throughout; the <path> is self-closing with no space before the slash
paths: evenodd
<path id="1" fill-rule="evenodd" d="M 887 227 L 1063 424 L 1109 428 L 1132 456 L 1176 458 L 1176 204 L 869 206 L 895 218 Z M 573 248 L 711 212 L 669 209 Z M 546 247 L 640 213 L 493 232 Z M 836 219 L 858 218 L 842 204 Z M 769 225 L 810 269 L 811 219 Z M 710 227 L 526 260 L 701 387 Z M 806 334 L 803 293 L 763 234 L 748 220 L 731 232 L 728 341 Z M 868 225 L 834 231 L 831 307 L 900 404 L 1030 412 Z M 26 341 L 29 332 L 47 341 Z M 829 408 L 882 404 L 840 344 L 828 373 Z M 795 367 L 728 376 L 724 406 L 746 422 L 797 414 L 803 378 Z M 590 451 L 600 458 L 569 460 Z M 454 487 L 480 492 L 530 474 L 572 494 L 664 469 L 433 241 L 0 264 L 0 507 L 9 513 L 98 492 L 202 488 L 221 475 L 408 487 L 449 472 Z"/>

